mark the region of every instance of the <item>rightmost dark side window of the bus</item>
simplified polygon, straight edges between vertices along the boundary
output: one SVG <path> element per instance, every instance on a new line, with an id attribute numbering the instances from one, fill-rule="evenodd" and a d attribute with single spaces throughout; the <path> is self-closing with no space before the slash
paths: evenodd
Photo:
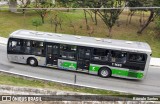
<path id="1" fill-rule="evenodd" d="M 130 62 L 145 62 L 146 58 L 145 58 L 144 54 L 130 53 L 129 54 L 129 61 Z"/>

